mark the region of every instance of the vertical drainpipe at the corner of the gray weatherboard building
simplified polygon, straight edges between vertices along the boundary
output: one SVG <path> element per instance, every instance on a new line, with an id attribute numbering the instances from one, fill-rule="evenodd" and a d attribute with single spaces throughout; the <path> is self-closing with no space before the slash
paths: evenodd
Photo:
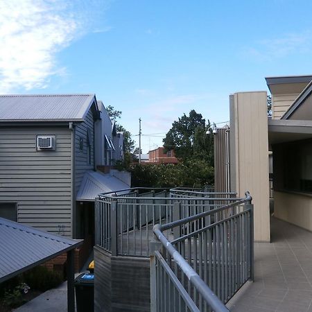
<path id="1" fill-rule="evenodd" d="M 71 237 L 76 238 L 76 192 L 75 192 L 75 125 L 70 122 L 71 130 Z"/>

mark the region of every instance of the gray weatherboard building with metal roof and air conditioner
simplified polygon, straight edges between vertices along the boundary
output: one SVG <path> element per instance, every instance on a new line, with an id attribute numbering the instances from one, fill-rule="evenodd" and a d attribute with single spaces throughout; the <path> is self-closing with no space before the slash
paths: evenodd
<path id="1" fill-rule="evenodd" d="M 0 217 L 93 239 L 94 197 L 130 185 L 97 171 L 123 157 L 112 128 L 94 94 L 0 96 Z"/>

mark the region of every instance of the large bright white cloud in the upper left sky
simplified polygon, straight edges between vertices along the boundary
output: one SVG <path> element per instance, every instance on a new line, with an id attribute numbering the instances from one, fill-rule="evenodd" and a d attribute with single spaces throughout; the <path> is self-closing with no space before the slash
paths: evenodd
<path id="1" fill-rule="evenodd" d="M 51 76 L 66 71 L 58 67 L 56 56 L 88 31 L 89 13 L 101 1 L 88 3 L 0 1 L 0 93 L 44 88 Z"/>

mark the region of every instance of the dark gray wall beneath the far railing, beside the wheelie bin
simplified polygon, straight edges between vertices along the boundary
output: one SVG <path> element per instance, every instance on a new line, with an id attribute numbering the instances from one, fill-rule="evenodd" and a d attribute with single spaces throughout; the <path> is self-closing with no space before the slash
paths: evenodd
<path id="1" fill-rule="evenodd" d="M 94 247 L 94 311 L 149 312 L 150 261 Z"/>

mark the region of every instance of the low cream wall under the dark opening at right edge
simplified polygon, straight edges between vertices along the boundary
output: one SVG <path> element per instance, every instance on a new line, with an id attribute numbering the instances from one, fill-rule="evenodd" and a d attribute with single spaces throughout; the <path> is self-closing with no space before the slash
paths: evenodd
<path id="1" fill-rule="evenodd" d="M 312 196 L 274 191 L 274 215 L 312 231 Z"/>

